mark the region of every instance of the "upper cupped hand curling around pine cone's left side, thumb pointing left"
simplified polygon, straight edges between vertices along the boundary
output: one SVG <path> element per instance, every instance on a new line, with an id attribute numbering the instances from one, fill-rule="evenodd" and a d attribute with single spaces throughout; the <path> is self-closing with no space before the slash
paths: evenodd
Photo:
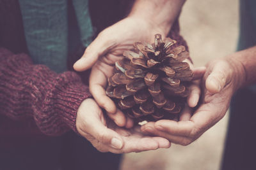
<path id="1" fill-rule="evenodd" d="M 131 122 L 115 103 L 106 96 L 108 78 L 113 74 L 113 66 L 122 59 L 125 50 L 131 50 L 135 41 L 154 41 L 154 34 L 166 36 L 159 27 L 136 17 L 127 17 L 104 29 L 86 48 L 83 57 L 74 64 L 76 71 L 84 71 L 92 67 L 90 75 L 90 92 L 100 107 L 104 108 L 116 124 L 127 126 Z"/>

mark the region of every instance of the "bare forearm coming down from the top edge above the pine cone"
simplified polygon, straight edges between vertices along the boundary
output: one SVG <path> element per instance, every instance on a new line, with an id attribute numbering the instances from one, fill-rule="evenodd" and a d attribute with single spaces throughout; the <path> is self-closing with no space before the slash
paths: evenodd
<path id="1" fill-rule="evenodd" d="M 186 0 L 136 0 L 129 17 L 139 17 L 159 27 L 167 35 Z"/>

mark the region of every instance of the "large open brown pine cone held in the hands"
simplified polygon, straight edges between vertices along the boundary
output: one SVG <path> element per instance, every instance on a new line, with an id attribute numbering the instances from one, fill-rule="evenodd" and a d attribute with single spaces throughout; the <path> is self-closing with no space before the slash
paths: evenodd
<path id="1" fill-rule="evenodd" d="M 186 103 L 193 73 L 182 62 L 189 52 L 175 43 L 156 34 L 154 44 L 136 42 L 134 52 L 124 52 L 124 59 L 115 63 L 106 94 L 138 122 L 179 117 Z"/>

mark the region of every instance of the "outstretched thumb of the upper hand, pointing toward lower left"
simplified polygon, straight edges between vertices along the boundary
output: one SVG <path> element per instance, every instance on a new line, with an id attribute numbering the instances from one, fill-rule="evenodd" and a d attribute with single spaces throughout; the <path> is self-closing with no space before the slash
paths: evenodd
<path id="1" fill-rule="evenodd" d="M 106 53 L 108 47 L 106 39 L 102 36 L 97 36 L 94 41 L 86 48 L 81 59 L 77 60 L 74 64 L 74 69 L 76 71 L 84 71 L 86 69 L 90 69 L 93 64 L 99 59 L 101 55 Z"/>

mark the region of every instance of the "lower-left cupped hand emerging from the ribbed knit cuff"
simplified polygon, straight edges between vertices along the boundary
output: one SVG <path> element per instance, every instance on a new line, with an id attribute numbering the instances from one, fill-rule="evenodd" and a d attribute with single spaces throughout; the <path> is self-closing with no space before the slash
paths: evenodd
<path id="1" fill-rule="evenodd" d="M 145 136 L 139 127 L 125 129 L 104 117 L 93 99 L 85 99 L 76 118 L 77 131 L 100 152 L 129 153 L 169 148 L 170 142 L 161 137 Z"/>

